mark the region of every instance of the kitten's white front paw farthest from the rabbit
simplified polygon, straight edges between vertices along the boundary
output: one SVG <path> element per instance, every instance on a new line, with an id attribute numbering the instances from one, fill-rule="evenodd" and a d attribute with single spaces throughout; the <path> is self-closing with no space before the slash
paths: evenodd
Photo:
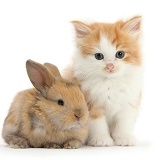
<path id="1" fill-rule="evenodd" d="M 115 144 L 117 146 L 135 146 L 136 140 L 133 136 L 115 136 Z"/>

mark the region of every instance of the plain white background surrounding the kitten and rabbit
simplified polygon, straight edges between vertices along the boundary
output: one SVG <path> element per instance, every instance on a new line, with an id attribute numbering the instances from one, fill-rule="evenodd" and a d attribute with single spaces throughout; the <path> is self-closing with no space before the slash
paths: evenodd
<path id="1" fill-rule="evenodd" d="M 160 10 L 158 0 L 0 0 L 0 131 L 14 95 L 32 87 L 27 59 L 56 64 L 62 71 L 74 52 L 71 20 L 114 22 L 143 16 L 144 92 L 135 147 L 78 150 L 11 149 L 0 137 L 0 159 L 159 159 Z"/>

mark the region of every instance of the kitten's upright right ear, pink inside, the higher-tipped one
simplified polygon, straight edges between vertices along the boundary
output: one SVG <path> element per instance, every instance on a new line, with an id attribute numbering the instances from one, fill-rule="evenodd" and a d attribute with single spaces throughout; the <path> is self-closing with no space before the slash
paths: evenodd
<path id="1" fill-rule="evenodd" d="M 142 22 L 142 17 L 135 16 L 129 19 L 127 22 L 125 22 L 123 28 L 128 32 L 130 32 L 131 34 L 134 34 L 138 38 L 141 31 L 141 22 Z"/>

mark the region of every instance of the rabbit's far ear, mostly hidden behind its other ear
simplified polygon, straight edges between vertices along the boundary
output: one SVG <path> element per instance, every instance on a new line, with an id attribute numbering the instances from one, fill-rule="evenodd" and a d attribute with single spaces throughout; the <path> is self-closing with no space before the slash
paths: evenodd
<path id="1" fill-rule="evenodd" d="M 53 77 L 56 80 L 62 79 L 62 76 L 61 76 L 58 68 L 55 65 L 53 65 L 51 63 L 44 63 L 44 66 L 46 66 L 49 69 L 49 71 L 52 73 Z"/>

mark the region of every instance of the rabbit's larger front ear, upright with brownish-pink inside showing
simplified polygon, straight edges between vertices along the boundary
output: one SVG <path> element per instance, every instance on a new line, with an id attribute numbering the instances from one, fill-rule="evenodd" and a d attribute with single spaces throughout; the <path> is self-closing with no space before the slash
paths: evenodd
<path id="1" fill-rule="evenodd" d="M 43 95 L 46 95 L 47 90 L 55 80 L 51 72 L 42 64 L 32 60 L 27 60 L 26 69 L 33 86 Z"/>

